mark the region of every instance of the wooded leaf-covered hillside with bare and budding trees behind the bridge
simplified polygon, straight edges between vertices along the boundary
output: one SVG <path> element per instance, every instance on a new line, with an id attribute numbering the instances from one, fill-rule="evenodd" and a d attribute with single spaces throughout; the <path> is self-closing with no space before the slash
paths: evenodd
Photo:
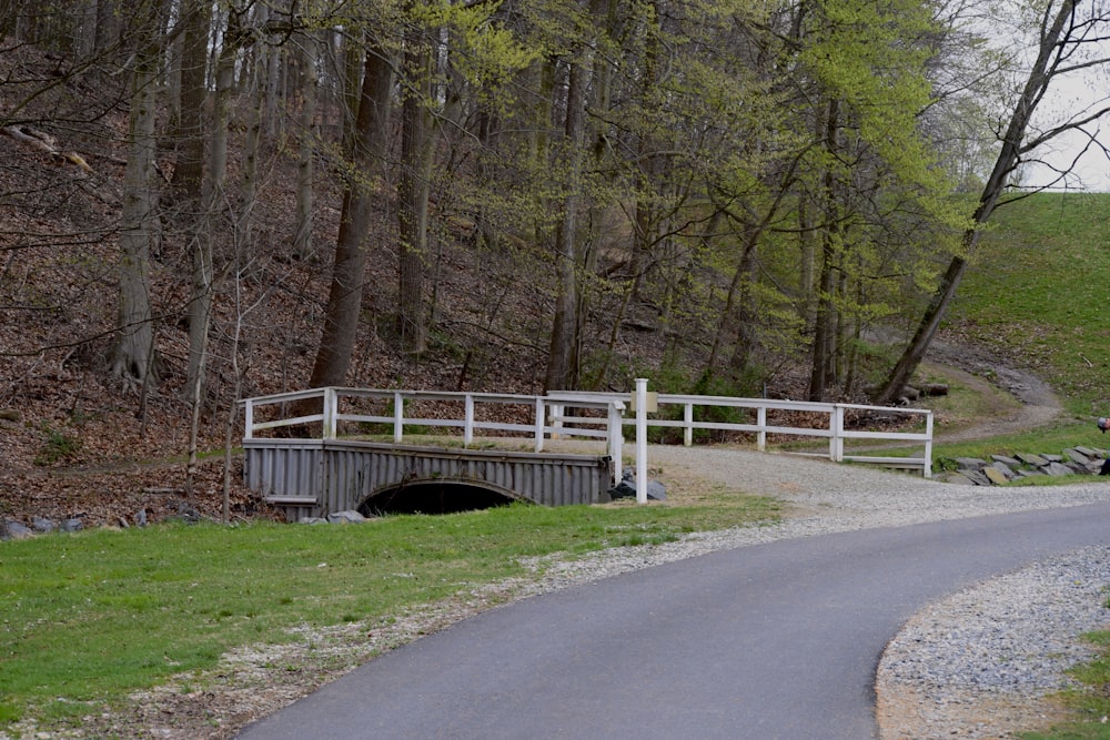
<path id="1" fill-rule="evenodd" d="M 1043 101 L 1108 13 L 0 0 L 2 452 L 195 465 L 327 385 L 890 403 L 1039 152 L 1099 145 Z"/>

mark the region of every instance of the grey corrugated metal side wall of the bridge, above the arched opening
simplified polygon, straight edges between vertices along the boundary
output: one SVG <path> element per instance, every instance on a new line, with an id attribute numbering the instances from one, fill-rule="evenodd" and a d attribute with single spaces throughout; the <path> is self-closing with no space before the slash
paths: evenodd
<path id="1" fill-rule="evenodd" d="M 417 484 L 456 484 L 544 506 L 609 500 L 610 457 L 445 449 L 335 439 L 244 439 L 248 487 L 291 521 L 357 509 Z"/>

